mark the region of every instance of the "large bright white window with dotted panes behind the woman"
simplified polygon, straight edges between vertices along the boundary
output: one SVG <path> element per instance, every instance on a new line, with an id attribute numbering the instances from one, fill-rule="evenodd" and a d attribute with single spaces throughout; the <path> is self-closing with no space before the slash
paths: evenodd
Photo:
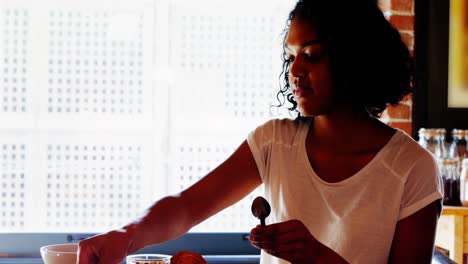
<path id="1" fill-rule="evenodd" d="M 222 162 L 278 116 L 290 6 L 0 0 L 0 232 L 117 228 Z M 249 231 L 260 194 L 192 231 Z"/>

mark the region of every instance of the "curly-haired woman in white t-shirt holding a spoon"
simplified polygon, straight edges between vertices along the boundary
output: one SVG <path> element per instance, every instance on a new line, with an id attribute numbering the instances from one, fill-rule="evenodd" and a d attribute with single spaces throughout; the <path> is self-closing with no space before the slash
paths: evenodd
<path id="1" fill-rule="evenodd" d="M 181 236 L 260 184 L 272 206 L 268 225 L 250 236 L 261 263 L 430 263 L 437 164 L 377 119 L 410 92 L 412 75 L 408 49 L 372 2 L 299 0 L 279 92 L 299 116 L 258 127 L 187 190 L 82 241 L 80 263 L 118 263 Z"/>

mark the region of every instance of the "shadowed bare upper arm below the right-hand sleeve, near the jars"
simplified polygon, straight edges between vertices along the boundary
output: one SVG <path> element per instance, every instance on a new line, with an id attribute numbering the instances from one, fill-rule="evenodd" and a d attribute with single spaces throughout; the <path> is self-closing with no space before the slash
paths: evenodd
<path id="1" fill-rule="evenodd" d="M 393 236 L 388 263 L 428 263 L 432 261 L 440 200 L 400 220 Z"/>

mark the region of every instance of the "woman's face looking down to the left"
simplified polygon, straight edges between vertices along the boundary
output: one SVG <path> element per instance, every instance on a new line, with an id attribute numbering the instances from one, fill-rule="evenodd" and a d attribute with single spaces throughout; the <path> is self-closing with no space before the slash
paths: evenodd
<path id="1" fill-rule="evenodd" d="M 333 107 L 330 59 L 325 41 L 302 19 L 291 21 L 285 51 L 289 64 L 289 85 L 303 116 L 318 116 Z"/>

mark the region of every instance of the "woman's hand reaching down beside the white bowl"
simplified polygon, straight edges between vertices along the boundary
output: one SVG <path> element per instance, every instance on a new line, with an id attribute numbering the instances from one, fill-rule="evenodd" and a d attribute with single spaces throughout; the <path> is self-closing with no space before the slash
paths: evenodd
<path id="1" fill-rule="evenodd" d="M 130 253 L 132 228 L 113 230 L 80 242 L 78 264 L 118 264 Z"/>

